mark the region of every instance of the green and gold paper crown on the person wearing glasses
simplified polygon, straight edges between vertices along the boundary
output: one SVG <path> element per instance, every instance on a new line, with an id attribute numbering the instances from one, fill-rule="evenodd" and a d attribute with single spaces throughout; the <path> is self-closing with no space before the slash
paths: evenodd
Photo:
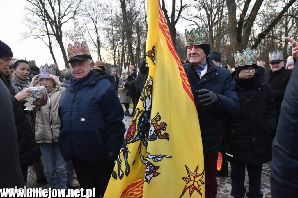
<path id="1" fill-rule="evenodd" d="M 242 54 L 239 51 L 235 54 L 235 67 L 244 65 L 257 65 L 257 51 L 255 49 L 246 49 Z"/>

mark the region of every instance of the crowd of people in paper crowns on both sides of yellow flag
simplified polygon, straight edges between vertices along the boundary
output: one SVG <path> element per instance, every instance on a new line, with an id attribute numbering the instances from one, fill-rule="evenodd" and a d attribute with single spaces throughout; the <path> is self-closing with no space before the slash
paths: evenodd
<path id="1" fill-rule="evenodd" d="M 262 168 L 272 159 L 271 196 L 294 197 L 298 159 L 291 152 L 297 147 L 297 42 L 286 38 L 293 46 L 293 56 L 286 62 L 281 51 L 270 52 L 270 70 L 265 72 L 265 62 L 258 61 L 255 49 L 235 52 L 232 69 L 222 65 L 220 51 L 211 51 L 206 27 L 184 34 L 183 67 L 200 123 L 205 196 L 216 197 L 216 177 L 228 176 L 229 161 L 231 196 L 263 197 Z M 94 62 L 84 42 L 69 43 L 67 52 L 70 69 L 63 68 L 60 75 L 55 64 L 38 68 L 35 61 L 12 61 L 12 49 L 0 41 L 1 156 L 16 156 L 10 157 L 9 165 L 0 163 L 1 188 L 24 187 L 28 165 L 33 163 L 37 183 L 47 182 L 53 189 L 95 187 L 96 197 L 104 196 L 124 140 L 122 120 L 134 114 L 148 65 L 144 59 L 139 70 L 130 65 L 129 76 L 126 70 L 118 76 L 116 68 L 108 73 L 105 62 Z M 46 89 L 46 104 L 26 111 L 24 103 L 32 95 L 28 88 L 36 86 Z M 284 159 L 292 174 L 282 169 Z M 278 185 L 281 191 L 276 190 Z"/>

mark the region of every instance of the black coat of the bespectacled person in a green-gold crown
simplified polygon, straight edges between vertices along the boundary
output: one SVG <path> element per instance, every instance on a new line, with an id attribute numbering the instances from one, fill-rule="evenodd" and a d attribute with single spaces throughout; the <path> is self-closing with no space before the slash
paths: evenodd
<path id="1" fill-rule="evenodd" d="M 252 78 L 253 86 L 248 89 L 233 73 L 240 110 L 230 120 L 228 153 L 234 155 L 230 161 L 256 165 L 271 160 L 276 114 L 270 88 L 261 81 L 259 74 L 255 73 Z"/>

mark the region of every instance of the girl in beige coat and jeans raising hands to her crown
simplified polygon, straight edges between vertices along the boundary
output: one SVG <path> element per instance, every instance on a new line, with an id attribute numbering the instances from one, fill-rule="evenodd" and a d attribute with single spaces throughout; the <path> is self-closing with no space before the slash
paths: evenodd
<path id="1" fill-rule="evenodd" d="M 51 66 L 45 65 L 44 67 Z M 50 73 L 42 73 L 32 78 L 31 86 L 38 81 L 48 92 L 48 102 L 37 109 L 35 121 L 35 139 L 41 149 L 41 159 L 44 164 L 46 179 L 53 189 L 66 189 L 66 161 L 64 161 L 58 147 L 60 133 L 60 119 L 58 106 L 64 87 L 59 78 Z M 45 70 L 44 70 L 45 71 Z M 47 70 L 49 71 L 49 70 Z"/>

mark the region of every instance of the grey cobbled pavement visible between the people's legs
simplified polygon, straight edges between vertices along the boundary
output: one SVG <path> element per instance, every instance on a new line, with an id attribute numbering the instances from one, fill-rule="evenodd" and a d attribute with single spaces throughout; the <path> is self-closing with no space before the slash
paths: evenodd
<path id="1" fill-rule="evenodd" d="M 124 109 L 124 107 L 123 107 Z M 129 109 L 130 112 L 132 112 L 132 109 Z M 130 121 L 132 117 L 124 116 L 123 123 L 125 124 L 126 130 L 129 127 Z M 217 198 L 231 198 L 230 195 L 231 192 L 231 167 L 229 165 L 229 176 L 228 177 L 217 177 L 217 183 L 218 183 L 218 190 L 217 190 Z M 262 184 L 261 184 L 261 191 L 264 194 L 263 198 L 271 198 L 270 193 L 270 163 L 263 165 L 263 172 L 262 172 Z M 246 181 L 245 186 L 248 189 L 248 176 L 246 172 Z M 27 181 L 27 188 L 49 188 L 48 184 L 37 184 L 36 183 L 36 177 L 33 166 L 29 166 L 28 169 L 28 181 Z M 207 198 L 207 197 L 206 197 Z M 245 196 L 245 198 L 247 198 Z"/>

